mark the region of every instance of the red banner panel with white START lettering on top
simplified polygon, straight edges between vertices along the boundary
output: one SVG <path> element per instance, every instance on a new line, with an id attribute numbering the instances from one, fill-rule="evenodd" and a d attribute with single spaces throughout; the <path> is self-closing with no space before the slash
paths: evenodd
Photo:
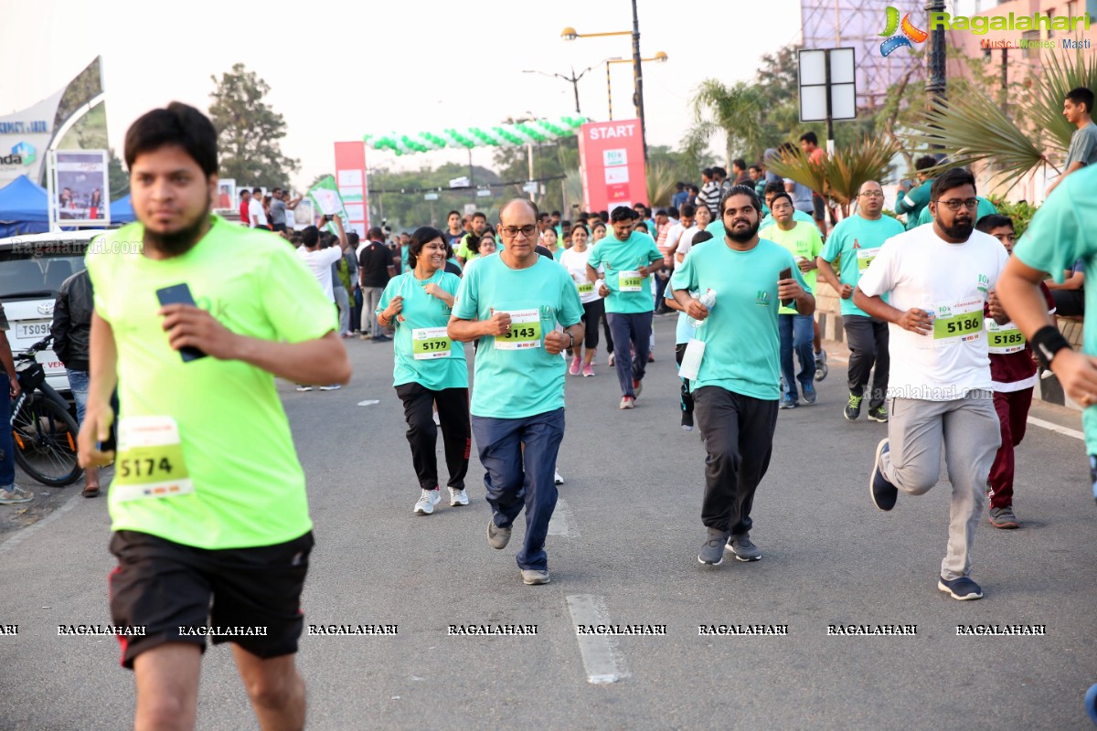
<path id="1" fill-rule="evenodd" d="M 588 122 L 579 129 L 585 210 L 647 204 L 647 171 L 640 119 Z"/>

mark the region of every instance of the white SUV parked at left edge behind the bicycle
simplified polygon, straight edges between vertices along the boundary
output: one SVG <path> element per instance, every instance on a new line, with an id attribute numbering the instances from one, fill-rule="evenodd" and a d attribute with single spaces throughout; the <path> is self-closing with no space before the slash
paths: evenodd
<path id="1" fill-rule="evenodd" d="M 30 233 L 0 239 L 0 302 L 11 330 L 8 342 L 15 353 L 49 334 L 54 302 L 61 282 L 84 269 L 88 243 L 102 230 Z M 46 381 L 68 391 L 65 366 L 52 350 L 38 354 Z"/>

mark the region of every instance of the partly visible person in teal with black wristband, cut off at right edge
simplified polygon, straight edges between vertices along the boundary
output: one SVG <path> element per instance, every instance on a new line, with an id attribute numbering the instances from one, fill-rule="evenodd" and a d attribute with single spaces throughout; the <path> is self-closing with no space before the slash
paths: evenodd
<path id="1" fill-rule="evenodd" d="M 1002 306 L 1009 312 L 1043 366 L 1055 373 L 1063 391 L 1085 407 L 1082 424 L 1086 434 L 1089 469 L 1097 486 L 1097 317 L 1087 317 L 1082 353 L 1075 353 L 1055 328 L 1040 294 L 1044 272 L 1056 282 L 1064 270 L 1082 260 L 1086 278 L 1097 277 L 1097 167 L 1086 167 L 1063 180 L 1059 192 L 1048 196 L 1014 247 L 998 279 Z M 1093 307 L 1089 302 L 1093 301 Z M 1086 309 L 1097 312 L 1097 287 L 1086 287 Z M 1094 498 L 1097 498 L 1095 492 Z"/>

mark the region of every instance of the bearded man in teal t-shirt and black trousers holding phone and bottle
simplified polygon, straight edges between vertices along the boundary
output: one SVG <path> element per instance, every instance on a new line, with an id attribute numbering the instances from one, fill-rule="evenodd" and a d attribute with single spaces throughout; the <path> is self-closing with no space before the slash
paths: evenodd
<path id="1" fill-rule="evenodd" d="M 691 249 L 670 277 L 675 301 L 702 320 L 693 339 L 703 353 L 691 386 L 708 452 L 701 506 L 708 539 L 698 560 L 711 566 L 723 562 L 725 548 L 739 561 L 761 558 L 750 541 L 750 509 L 777 429 L 778 304 L 794 300 L 801 315 L 815 310 L 792 254 L 758 238 L 760 208 L 753 190 L 732 189 L 720 208 L 725 237 Z M 784 270 L 791 278 L 780 278 Z M 711 309 L 690 296 L 710 289 L 716 298 Z M 691 345 L 693 353 L 700 347 Z M 690 359 L 687 349 L 683 367 Z"/>

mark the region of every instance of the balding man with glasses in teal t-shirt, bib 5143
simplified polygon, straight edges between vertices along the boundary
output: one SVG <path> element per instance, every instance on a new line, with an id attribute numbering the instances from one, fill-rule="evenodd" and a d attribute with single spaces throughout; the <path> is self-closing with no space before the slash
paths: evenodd
<path id="1" fill-rule="evenodd" d="M 559 354 L 581 343 L 584 334 L 570 274 L 535 251 L 536 222 L 530 201 L 502 206 L 499 235 L 507 248 L 465 273 L 449 325 L 453 340 L 479 341 L 471 411 L 493 513 L 488 544 L 506 548 L 524 501 L 525 537 L 517 560 L 527 584 L 548 583 L 544 545 L 564 438 L 567 364 Z"/>

